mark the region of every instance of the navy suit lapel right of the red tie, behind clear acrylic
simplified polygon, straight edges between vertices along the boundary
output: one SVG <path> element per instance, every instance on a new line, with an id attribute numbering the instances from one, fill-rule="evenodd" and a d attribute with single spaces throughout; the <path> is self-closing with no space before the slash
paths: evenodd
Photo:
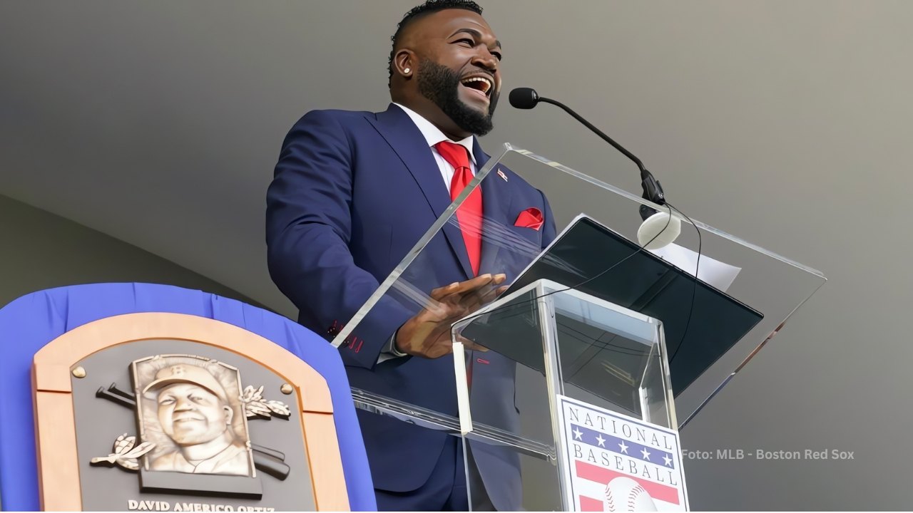
<path id="1" fill-rule="evenodd" d="M 477 140 L 473 140 L 473 148 L 477 171 L 481 171 L 488 163 L 488 155 L 482 152 Z M 494 267 L 498 249 L 504 240 L 501 235 L 503 230 L 501 225 L 510 221 L 508 213 L 513 194 L 510 194 L 509 183 L 502 180 L 497 173 L 498 167 L 496 166 L 480 185 L 482 187 L 482 214 L 485 223 L 482 225 L 482 261 L 478 266 L 478 272 L 483 274 Z"/>

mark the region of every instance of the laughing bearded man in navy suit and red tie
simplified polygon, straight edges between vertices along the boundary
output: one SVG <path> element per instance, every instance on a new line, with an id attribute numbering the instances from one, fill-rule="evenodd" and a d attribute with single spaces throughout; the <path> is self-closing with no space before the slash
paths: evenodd
<path id="1" fill-rule="evenodd" d="M 393 104 L 306 114 L 289 131 L 268 190 L 270 274 L 299 322 L 328 339 L 489 159 L 475 136 L 492 128 L 501 45 L 481 8 L 429 0 L 404 16 L 393 39 Z M 453 361 L 441 358 L 452 352 L 450 326 L 519 270 L 509 251 L 498 252 L 498 237 L 537 252 L 555 236 L 544 195 L 505 167 L 468 204 L 507 226 L 503 235 L 480 241 L 467 218 L 446 225 L 423 250 L 434 268 L 412 282 L 436 308 L 384 296 L 340 348 L 352 386 L 456 415 Z M 474 388 L 490 396 L 488 422 L 515 427 L 513 363 L 492 354 L 473 368 Z M 380 509 L 468 508 L 458 439 L 377 414 L 359 418 Z M 519 508 L 518 456 L 485 445 L 471 453 L 488 506 Z"/>

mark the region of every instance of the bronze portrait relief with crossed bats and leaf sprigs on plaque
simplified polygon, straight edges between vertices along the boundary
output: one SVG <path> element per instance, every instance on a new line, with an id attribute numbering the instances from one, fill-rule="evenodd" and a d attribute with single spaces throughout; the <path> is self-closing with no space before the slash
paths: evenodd
<path id="1" fill-rule="evenodd" d="M 131 392 L 113 382 L 95 397 L 130 408 L 138 434 L 117 436 L 111 453 L 90 465 L 137 472 L 143 493 L 257 499 L 262 475 L 289 477 L 287 455 L 252 440 L 250 420 L 288 422 L 291 414 L 288 404 L 263 397 L 265 385 L 244 386 L 237 367 L 187 353 L 143 356 L 128 367 Z M 284 390 L 293 392 L 288 383 Z"/>

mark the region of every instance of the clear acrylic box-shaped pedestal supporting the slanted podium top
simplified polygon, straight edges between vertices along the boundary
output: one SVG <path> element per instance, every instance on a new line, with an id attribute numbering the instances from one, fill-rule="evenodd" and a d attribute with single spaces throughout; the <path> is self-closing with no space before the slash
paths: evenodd
<path id="1" fill-rule="evenodd" d="M 520 469 L 521 482 L 529 485 L 517 494 L 521 509 L 575 510 L 563 477 L 570 469 L 558 457 L 568 449 L 559 435 L 559 396 L 663 427 L 677 425 L 666 340 L 657 319 L 539 279 L 457 322 L 452 333 L 455 340 L 488 349 L 465 351 L 470 365 L 496 351 L 522 369 L 518 384 L 524 385 L 517 387 L 515 402 L 523 403 L 518 409 L 524 414 L 513 421 L 492 414 L 489 391 L 469 382 L 460 411 L 466 454 L 482 443 L 498 445 L 502 457 L 512 457 Z M 477 432 L 488 436 L 480 440 Z M 484 487 L 467 479 L 474 509 L 487 509 L 488 500 L 478 499 L 488 497 Z"/>

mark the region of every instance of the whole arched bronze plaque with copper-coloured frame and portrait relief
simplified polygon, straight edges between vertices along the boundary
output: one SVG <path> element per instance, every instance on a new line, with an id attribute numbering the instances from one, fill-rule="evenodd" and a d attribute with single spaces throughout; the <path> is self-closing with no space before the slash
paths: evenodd
<path id="1" fill-rule="evenodd" d="M 38 351 L 33 381 L 46 510 L 349 508 L 326 381 L 247 330 L 100 319 Z"/>

